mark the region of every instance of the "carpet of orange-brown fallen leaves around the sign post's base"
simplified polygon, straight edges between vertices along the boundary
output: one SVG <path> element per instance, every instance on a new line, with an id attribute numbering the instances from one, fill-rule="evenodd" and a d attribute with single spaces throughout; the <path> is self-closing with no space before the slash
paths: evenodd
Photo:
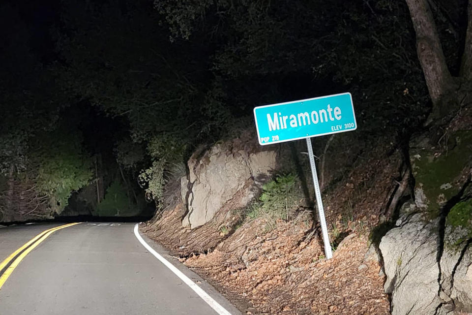
<path id="1" fill-rule="evenodd" d="M 323 254 L 322 247 L 317 238 L 300 242 L 303 232 L 280 223 L 271 232 L 279 235 L 276 242 L 254 236 L 244 251 L 250 252 L 247 266 L 237 256 L 220 252 L 224 244 L 206 256 L 188 258 L 185 264 L 230 296 L 248 300 L 251 307 L 246 314 L 389 314 L 380 266 L 364 261 L 365 236 L 351 236 L 331 260 L 313 261 Z M 223 243 L 232 237 L 238 236 Z M 365 267 L 359 271 L 361 265 Z"/>

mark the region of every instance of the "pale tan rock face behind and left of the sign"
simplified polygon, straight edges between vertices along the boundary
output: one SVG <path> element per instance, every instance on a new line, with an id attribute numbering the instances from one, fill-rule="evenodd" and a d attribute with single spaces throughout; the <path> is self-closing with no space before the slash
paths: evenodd
<path id="1" fill-rule="evenodd" d="M 264 151 L 254 139 L 241 138 L 216 144 L 203 155 L 194 153 L 188 161 L 188 179 L 181 181 L 188 209 L 182 225 L 195 228 L 220 210 L 229 213 L 246 206 L 271 178 L 276 158 L 275 151 Z"/>

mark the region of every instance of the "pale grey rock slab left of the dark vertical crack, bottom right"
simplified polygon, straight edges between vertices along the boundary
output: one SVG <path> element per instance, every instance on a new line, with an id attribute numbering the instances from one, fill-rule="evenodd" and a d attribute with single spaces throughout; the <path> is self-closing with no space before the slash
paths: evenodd
<path id="1" fill-rule="evenodd" d="M 408 223 L 388 231 L 380 243 L 387 277 L 384 290 L 392 294 L 392 315 L 435 314 L 441 303 L 438 235 L 432 233 L 437 223 L 425 225 L 421 215 L 415 215 Z"/>

